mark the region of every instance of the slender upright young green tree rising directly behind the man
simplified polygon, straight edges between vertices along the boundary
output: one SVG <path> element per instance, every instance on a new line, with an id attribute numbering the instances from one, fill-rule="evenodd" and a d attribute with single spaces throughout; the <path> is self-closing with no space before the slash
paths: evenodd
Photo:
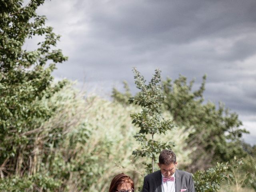
<path id="1" fill-rule="evenodd" d="M 154 140 L 155 134 L 166 134 L 168 130 L 173 128 L 171 120 L 165 120 L 162 117 L 162 103 L 164 95 L 162 88 L 159 85 L 161 81 L 160 70 L 156 69 L 155 74 L 146 85 L 144 77 L 138 72 L 136 68 L 133 69 L 135 84 L 140 92 L 135 97 L 130 98 L 130 103 L 141 106 L 140 113 L 132 113 L 132 123 L 140 128 L 139 132 L 135 135 L 136 140 L 140 144 L 140 148 L 133 151 L 135 156 L 151 158 L 151 164 L 146 164 L 147 171 L 154 172 L 154 162 L 156 156 L 164 148 L 172 148 L 172 142 L 158 142 Z M 151 138 L 147 136 L 150 135 Z"/>

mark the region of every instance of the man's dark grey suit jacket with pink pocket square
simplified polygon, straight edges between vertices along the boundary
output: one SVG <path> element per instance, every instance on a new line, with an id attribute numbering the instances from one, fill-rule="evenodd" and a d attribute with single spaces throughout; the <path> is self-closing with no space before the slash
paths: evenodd
<path id="1" fill-rule="evenodd" d="M 180 192 L 181 189 L 186 189 L 186 192 L 195 192 L 194 182 L 190 173 L 176 170 L 175 182 L 176 192 Z M 158 170 L 144 177 L 142 192 L 162 192 L 161 185 L 162 174 L 161 171 Z"/>

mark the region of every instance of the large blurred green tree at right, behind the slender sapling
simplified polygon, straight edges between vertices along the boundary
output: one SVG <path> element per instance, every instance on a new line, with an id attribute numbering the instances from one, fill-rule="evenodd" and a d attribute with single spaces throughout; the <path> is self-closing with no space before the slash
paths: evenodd
<path id="1" fill-rule="evenodd" d="M 241 146 L 242 122 L 236 113 L 230 113 L 220 104 L 204 103 L 206 76 L 201 87 L 192 91 L 194 80 L 187 84 L 187 79 L 180 76 L 173 83 L 169 78 L 163 83 L 165 105 L 179 126 L 193 128 L 187 140 L 188 145 L 197 150 L 192 158 L 191 172 L 209 168 L 215 162 L 226 162 L 234 156 L 245 155 Z"/>

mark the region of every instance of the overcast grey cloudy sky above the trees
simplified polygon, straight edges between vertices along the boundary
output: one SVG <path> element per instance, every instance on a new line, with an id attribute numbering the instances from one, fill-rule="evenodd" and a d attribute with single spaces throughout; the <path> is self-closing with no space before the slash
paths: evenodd
<path id="1" fill-rule="evenodd" d="M 46 0 L 38 14 L 69 57 L 56 79 L 109 97 L 123 80 L 136 92 L 132 67 L 148 80 L 156 68 L 195 78 L 195 88 L 207 74 L 206 101 L 237 112 L 256 144 L 255 10 L 255 0 Z"/>

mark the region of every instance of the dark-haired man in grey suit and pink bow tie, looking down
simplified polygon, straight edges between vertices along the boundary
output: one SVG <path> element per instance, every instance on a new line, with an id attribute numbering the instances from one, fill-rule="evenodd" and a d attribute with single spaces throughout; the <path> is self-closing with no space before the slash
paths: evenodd
<path id="1" fill-rule="evenodd" d="M 192 175 L 176 170 L 178 162 L 172 150 L 162 150 L 158 166 L 160 170 L 144 178 L 142 192 L 195 192 Z"/>

